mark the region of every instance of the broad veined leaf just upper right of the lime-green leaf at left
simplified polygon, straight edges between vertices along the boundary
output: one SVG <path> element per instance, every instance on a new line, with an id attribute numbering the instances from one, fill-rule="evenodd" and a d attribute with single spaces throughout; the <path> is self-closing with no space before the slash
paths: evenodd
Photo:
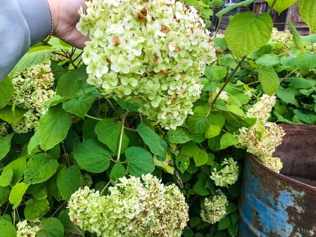
<path id="1" fill-rule="evenodd" d="M 39 153 L 33 155 L 27 162 L 24 181 L 27 184 L 38 184 L 48 180 L 58 168 L 58 161 L 51 155 Z"/>

